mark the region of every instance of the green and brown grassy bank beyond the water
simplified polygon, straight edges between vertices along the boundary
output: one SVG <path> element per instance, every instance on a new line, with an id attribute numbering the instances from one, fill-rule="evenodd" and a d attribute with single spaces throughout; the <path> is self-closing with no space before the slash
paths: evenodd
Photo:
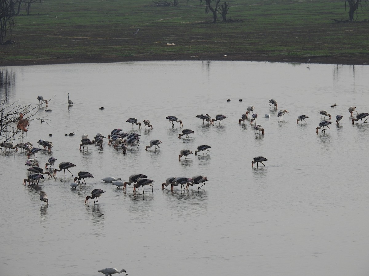
<path id="1" fill-rule="evenodd" d="M 369 63 L 369 23 L 337 24 L 333 19 L 348 18 L 344 1 L 326 2 L 231 1 L 228 17 L 243 21 L 218 18 L 213 24 L 204 1 L 150 7 L 150 0 L 47 0 L 33 4 L 30 15 L 22 10 L 15 17 L 7 39 L 18 43 L 0 46 L 0 65 L 166 59 Z M 365 18 L 359 13 L 358 20 Z"/>

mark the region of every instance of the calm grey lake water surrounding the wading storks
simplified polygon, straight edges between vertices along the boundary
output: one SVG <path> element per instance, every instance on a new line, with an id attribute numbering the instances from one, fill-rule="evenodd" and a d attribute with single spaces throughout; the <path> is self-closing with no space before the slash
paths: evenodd
<path id="1" fill-rule="evenodd" d="M 0 156 L 0 275 L 97 276 L 106 267 L 132 276 L 368 275 L 369 124 L 352 125 L 348 112 L 349 106 L 369 112 L 368 66 L 168 61 L 0 72 L 10 76 L 1 100 L 36 107 L 38 95 L 55 96 L 51 113 L 38 111 L 45 123 L 32 121 L 23 139 L 34 146 L 39 139 L 53 142 L 51 153 L 37 154 L 40 166 L 53 156 L 56 167 L 77 165 L 70 169 L 73 177 L 82 170 L 94 176 L 81 190 L 70 188 L 68 171 L 23 186 L 25 153 Z M 283 122 L 270 99 L 289 111 Z M 250 105 L 264 135 L 255 135 L 249 119 L 238 124 Z M 333 124 L 317 135 L 323 109 Z M 206 113 L 227 118 L 204 125 L 195 116 Z M 297 125 L 301 114 L 310 118 Z M 339 126 L 337 114 L 344 116 Z M 173 128 L 169 115 L 184 127 Z M 134 125 L 141 134 L 138 148 L 123 154 L 106 138 L 102 149 L 79 151 L 83 133 L 93 139 L 115 128 L 131 132 L 130 117 L 153 125 Z M 195 134 L 178 139 L 186 128 Z M 65 136 L 69 132 L 76 135 Z M 160 149 L 145 151 L 151 139 L 163 142 Z M 179 161 L 180 150 L 203 144 L 211 146 L 207 155 Z M 269 161 L 252 169 L 260 155 Z M 146 186 L 133 194 L 132 185 L 125 192 L 100 180 L 127 181 L 134 173 L 155 180 L 154 191 Z M 161 189 L 168 177 L 198 174 L 209 180 L 199 190 Z M 95 188 L 106 193 L 99 205 L 85 205 Z M 40 206 L 40 191 L 48 194 L 48 206 Z"/>

